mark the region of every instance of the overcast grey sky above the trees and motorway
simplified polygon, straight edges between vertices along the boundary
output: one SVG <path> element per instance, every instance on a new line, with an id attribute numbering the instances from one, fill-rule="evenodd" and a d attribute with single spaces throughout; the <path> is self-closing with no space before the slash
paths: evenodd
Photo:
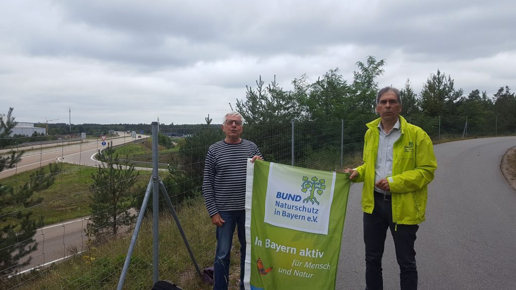
<path id="1" fill-rule="evenodd" d="M 516 1 L 0 2 L 0 112 L 19 122 L 220 123 L 246 85 L 285 89 L 385 59 L 380 87 L 437 70 L 464 94 L 516 86 Z M 343 116 L 345 118 L 345 116 Z"/>

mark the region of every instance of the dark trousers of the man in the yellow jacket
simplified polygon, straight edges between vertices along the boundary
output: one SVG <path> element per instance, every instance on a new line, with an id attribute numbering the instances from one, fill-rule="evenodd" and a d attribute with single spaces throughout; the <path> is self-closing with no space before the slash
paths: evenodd
<path id="1" fill-rule="evenodd" d="M 365 281 L 366 290 L 383 289 L 382 256 L 387 229 L 396 248 L 400 269 L 401 290 L 417 289 L 417 269 L 414 241 L 417 224 L 396 224 L 392 221 L 392 205 L 375 192 L 375 207 L 372 214 L 364 213 Z"/>

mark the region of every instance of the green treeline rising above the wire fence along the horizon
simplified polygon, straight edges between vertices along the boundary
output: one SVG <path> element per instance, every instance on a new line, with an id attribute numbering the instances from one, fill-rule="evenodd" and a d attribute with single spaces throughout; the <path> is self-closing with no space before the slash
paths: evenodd
<path id="1" fill-rule="evenodd" d="M 376 118 L 375 100 L 377 78 L 384 73 L 385 60 L 368 56 L 365 62 L 356 63 L 353 79 L 346 80 L 338 68 L 330 69 L 315 82 L 306 75 L 292 80 L 293 89 L 285 90 L 275 79 L 265 84 L 262 77 L 256 86 L 246 86 L 245 98 L 231 105 L 250 125 L 297 122 L 328 122 L 337 120 L 370 121 Z M 499 90 L 489 96 L 480 89 L 465 93 L 456 88 L 450 75 L 437 70 L 423 84 L 421 92 L 413 90 L 410 79 L 401 93 L 401 115 L 416 125 L 440 122 L 440 126 L 495 127 L 498 132 L 516 131 L 516 98 L 509 86 L 500 84 Z M 220 116 L 217 116 L 217 120 Z M 439 119 L 437 119 L 439 118 Z M 211 124 L 212 119 L 199 120 L 203 124 L 159 124 L 160 131 L 182 128 L 199 128 Z M 44 123 L 37 126 L 46 126 Z M 150 124 L 49 124 L 49 135 L 88 134 L 114 131 L 150 131 Z M 480 129 L 478 129 L 480 130 Z M 485 131 L 485 129 L 482 129 Z M 185 133 L 186 134 L 186 133 Z"/>

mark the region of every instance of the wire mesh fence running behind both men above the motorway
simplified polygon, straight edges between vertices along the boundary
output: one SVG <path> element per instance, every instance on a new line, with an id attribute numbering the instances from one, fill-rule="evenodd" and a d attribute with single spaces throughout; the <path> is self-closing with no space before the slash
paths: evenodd
<path id="1" fill-rule="evenodd" d="M 433 140 L 515 133 L 514 128 L 504 127 L 500 120 L 481 124 L 475 123 L 473 118 L 409 118 L 408 121 L 424 128 Z M 270 162 L 342 170 L 360 163 L 366 129 L 365 121 L 347 120 L 245 125 L 242 137 L 256 143 L 265 160 Z M 224 135 L 219 125 L 162 128 L 160 133 L 157 138 L 160 179 L 175 206 L 197 263 L 201 268 L 211 266 L 215 228 L 209 222 L 201 186 L 207 149 Z M 16 256 L 37 244 L 37 250 L 20 259 L 2 261 L 0 279 L 4 282 L 0 288 L 116 288 L 140 212 L 145 218 L 123 288 L 150 288 L 153 282 L 152 196 L 147 206 L 141 208 L 146 188 L 152 181 L 153 141 L 149 136 L 150 128 L 136 136 L 120 132 L 86 134 L 79 140 L 54 142 L 49 142 L 52 139 L 49 136 L 39 143 L 37 140 L 31 140 L 32 143 L 0 141 L 4 144 L 2 156 L 7 156 L 11 150 L 25 151 L 17 166 L 0 172 L 2 199 L 6 200 L 6 195 L 18 197 L 2 204 L 0 223 L 2 227 L 12 227 L 4 231 L 0 251 Z M 118 156 L 114 168 L 125 171 L 134 166 L 135 174 L 124 176 L 116 170 L 107 175 L 99 173 L 107 170 L 109 164 L 96 155 L 108 147 L 114 148 L 114 155 Z M 48 164 L 57 164 L 59 168 L 52 171 L 47 168 Z M 95 176 L 104 183 L 97 182 Z M 50 179 L 53 179 L 52 184 L 41 185 Z M 115 195 L 116 188 L 122 184 L 130 186 L 122 187 L 124 192 L 118 193 L 117 200 L 103 201 L 110 206 L 92 206 L 95 192 Z M 22 199 L 23 196 L 27 198 Z M 172 280 L 186 289 L 211 288 L 198 277 L 164 196 L 158 198 L 159 278 Z M 27 220 L 35 221 L 30 227 L 23 223 L 27 215 Z M 101 218 L 93 223 L 93 217 Z M 31 234 L 29 230 L 33 228 L 34 234 Z M 238 248 L 237 242 L 234 245 Z M 237 264 L 238 249 L 235 249 L 230 277 L 234 286 L 238 285 Z"/>

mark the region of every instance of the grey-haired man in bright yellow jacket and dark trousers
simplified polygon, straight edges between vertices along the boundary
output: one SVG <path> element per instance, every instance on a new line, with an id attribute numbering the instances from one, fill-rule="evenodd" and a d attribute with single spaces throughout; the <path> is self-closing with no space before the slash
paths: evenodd
<path id="1" fill-rule="evenodd" d="M 437 160 L 433 144 L 422 128 L 399 116 L 400 93 L 392 87 L 378 92 L 380 118 L 367 124 L 364 164 L 345 170 L 353 182 L 364 182 L 366 290 L 383 289 L 382 256 L 390 228 L 400 268 L 401 290 L 417 289 L 414 241 L 425 220 L 427 185 Z"/>

